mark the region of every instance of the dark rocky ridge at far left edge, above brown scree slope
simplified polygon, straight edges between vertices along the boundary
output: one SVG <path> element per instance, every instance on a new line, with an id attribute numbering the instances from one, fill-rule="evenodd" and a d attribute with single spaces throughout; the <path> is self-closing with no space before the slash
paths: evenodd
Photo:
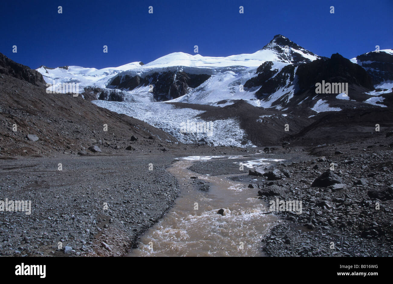
<path id="1" fill-rule="evenodd" d="M 45 81 L 42 74 L 30 69 L 29 66 L 19 64 L 4 54 L 0 53 L 0 74 L 6 74 L 39 87 L 45 87 Z"/>

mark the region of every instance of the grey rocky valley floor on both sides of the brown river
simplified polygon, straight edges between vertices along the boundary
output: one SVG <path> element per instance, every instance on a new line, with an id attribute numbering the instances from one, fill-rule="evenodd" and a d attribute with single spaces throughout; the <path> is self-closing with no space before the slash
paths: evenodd
<path id="1" fill-rule="evenodd" d="M 270 164 L 264 172 L 274 174 L 265 176 L 247 169 L 239 176 L 239 167 L 230 159 L 194 163 L 189 169 L 236 174 L 232 179 L 249 183 L 248 190 L 255 191 L 267 206 L 276 198 L 302 202 L 301 214 L 273 212 L 281 221 L 261 244 L 267 255 L 392 256 L 389 139 L 327 145 L 311 153 L 301 147 L 189 147 L 176 154 L 3 158 L 1 200 L 31 200 L 31 214 L 0 213 L 0 254 L 126 255 L 138 236 L 176 202 L 178 181 L 165 170 L 175 158 L 249 154 L 285 161 Z M 340 183 L 312 186 L 332 163 L 333 177 Z M 199 187 L 195 184 L 191 190 Z"/>

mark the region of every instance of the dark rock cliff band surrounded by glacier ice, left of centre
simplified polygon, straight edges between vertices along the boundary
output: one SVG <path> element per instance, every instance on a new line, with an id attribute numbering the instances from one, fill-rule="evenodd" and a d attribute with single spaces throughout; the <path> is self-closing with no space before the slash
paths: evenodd
<path id="1" fill-rule="evenodd" d="M 154 99 L 157 101 L 168 101 L 185 95 L 189 88 L 196 88 L 209 78 L 210 75 L 188 74 L 184 71 L 155 72 L 144 78 L 119 74 L 110 82 L 108 87 L 134 90 L 137 87 L 149 86 L 151 84 L 153 85 L 152 93 Z"/>

